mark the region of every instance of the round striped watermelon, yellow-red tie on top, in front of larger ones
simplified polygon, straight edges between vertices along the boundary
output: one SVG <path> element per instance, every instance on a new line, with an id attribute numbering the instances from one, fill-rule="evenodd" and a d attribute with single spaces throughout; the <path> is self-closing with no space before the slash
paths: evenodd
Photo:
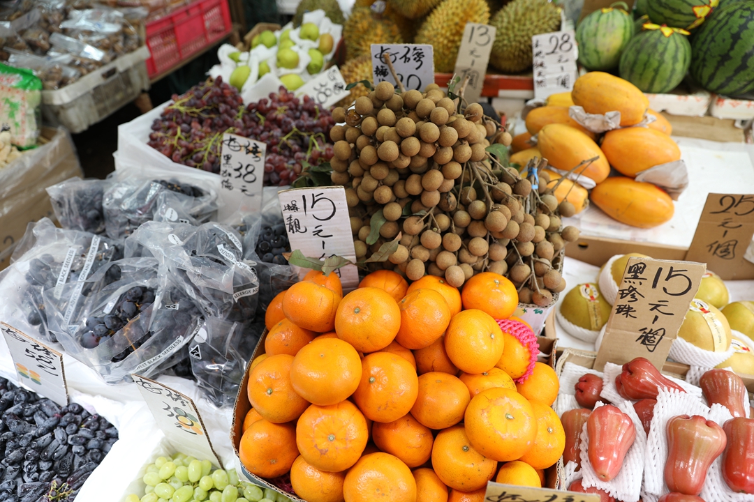
<path id="1" fill-rule="evenodd" d="M 644 93 L 673 90 L 691 65 L 687 35 L 685 30 L 667 26 L 645 29 L 631 39 L 621 56 L 621 78 Z"/>

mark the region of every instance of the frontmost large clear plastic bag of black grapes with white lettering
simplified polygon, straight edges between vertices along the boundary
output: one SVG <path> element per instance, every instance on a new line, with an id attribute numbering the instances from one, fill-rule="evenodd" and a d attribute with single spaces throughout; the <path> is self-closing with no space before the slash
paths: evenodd
<path id="1" fill-rule="evenodd" d="M 57 339 L 110 384 L 130 381 L 131 373 L 153 376 L 167 369 L 170 356 L 204 324 L 194 300 L 155 258 L 126 258 L 113 266 L 121 279 L 97 289 L 104 270 L 88 281 L 95 291 L 87 298 L 76 299 L 69 288 L 60 299 L 44 294 Z"/>

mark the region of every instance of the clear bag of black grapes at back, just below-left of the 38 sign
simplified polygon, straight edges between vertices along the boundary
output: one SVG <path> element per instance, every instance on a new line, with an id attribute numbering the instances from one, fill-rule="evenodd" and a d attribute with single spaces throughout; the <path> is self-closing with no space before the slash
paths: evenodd
<path id="1" fill-rule="evenodd" d="M 170 190 L 189 205 L 189 214 L 199 223 L 216 215 L 214 190 L 165 180 L 129 179 L 119 181 L 103 194 L 105 228 L 112 239 L 124 239 L 139 225 L 152 221 L 158 208 L 158 195 Z"/>

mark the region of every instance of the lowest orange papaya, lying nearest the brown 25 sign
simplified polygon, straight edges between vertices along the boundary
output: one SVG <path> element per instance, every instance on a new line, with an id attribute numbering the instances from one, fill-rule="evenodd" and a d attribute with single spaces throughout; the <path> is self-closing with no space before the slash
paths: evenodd
<path id="1" fill-rule="evenodd" d="M 666 192 L 624 176 L 598 183 L 591 198 L 609 217 L 631 227 L 657 227 L 673 218 L 673 199 Z"/>

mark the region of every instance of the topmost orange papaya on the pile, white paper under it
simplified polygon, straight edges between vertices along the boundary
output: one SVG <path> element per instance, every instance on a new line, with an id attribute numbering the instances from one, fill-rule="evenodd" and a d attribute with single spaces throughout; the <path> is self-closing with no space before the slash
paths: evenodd
<path id="1" fill-rule="evenodd" d="M 604 71 L 590 71 L 573 84 L 573 102 L 590 114 L 621 112 L 621 127 L 634 126 L 644 120 L 649 100 L 639 87 Z"/>

